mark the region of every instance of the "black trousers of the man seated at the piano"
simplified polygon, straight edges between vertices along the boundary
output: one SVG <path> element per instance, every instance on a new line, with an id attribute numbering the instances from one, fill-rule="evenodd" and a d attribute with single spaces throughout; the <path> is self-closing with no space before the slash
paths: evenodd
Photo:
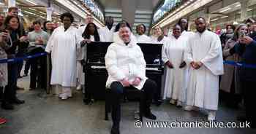
<path id="1" fill-rule="evenodd" d="M 152 98 L 154 96 L 154 92 L 157 88 L 156 82 L 152 81 L 151 79 L 147 79 L 143 88 L 141 89 L 143 91 L 143 95 L 141 96 L 142 106 L 143 106 L 143 113 L 147 114 L 150 111 L 150 106 L 152 103 Z M 134 87 L 135 90 L 137 90 Z M 122 94 L 125 90 L 121 82 L 113 82 L 110 85 L 111 90 L 111 106 L 112 106 L 112 112 L 111 117 L 113 120 L 113 124 L 119 125 L 121 120 L 121 98 Z"/>

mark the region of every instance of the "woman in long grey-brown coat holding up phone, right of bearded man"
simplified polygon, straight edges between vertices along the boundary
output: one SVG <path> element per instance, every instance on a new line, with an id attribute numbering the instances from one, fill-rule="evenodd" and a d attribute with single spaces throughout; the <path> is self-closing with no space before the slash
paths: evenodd
<path id="1" fill-rule="evenodd" d="M 232 49 L 236 43 L 238 43 L 238 39 L 243 38 L 248 34 L 248 28 L 246 24 L 240 24 L 237 26 L 234 36 L 231 39 L 228 39 L 222 54 L 225 60 L 239 62 L 241 60 L 241 56 L 238 54 L 230 55 L 230 49 Z M 224 65 L 225 74 L 222 75 L 222 79 L 220 82 L 220 90 L 224 91 L 227 96 L 227 105 L 230 107 L 238 107 L 238 103 L 241 102 L 241 82 L 240 82 L 240 68 L 231 65 Z"/>

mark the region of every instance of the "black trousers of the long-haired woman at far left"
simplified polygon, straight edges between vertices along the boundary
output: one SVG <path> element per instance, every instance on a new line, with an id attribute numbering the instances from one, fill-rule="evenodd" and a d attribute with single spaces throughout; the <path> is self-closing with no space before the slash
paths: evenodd
<path id="1" fill-rule="evenodd" d="M 8 84 L 4 87 L 4 100 L 13 101 L 16 98 L 16 86 L 18 79 L 18 63 L 8 63 Z"/>

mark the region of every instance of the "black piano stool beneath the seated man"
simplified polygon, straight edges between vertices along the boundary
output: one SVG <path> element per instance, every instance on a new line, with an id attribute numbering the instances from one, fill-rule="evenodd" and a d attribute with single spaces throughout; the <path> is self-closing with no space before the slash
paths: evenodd
<path id="1" fill-rule="evenodd" d="M 140 98 L 139 99 L 139 110 L 135 111 L 135 114 L 139 114 L 139 119 L 137 119 L 137 120 L 140 120 L 141 122 L 143 122 L 143 113 L 142 113 L 143 112 L 143 106 L 142 106 L 143 90 L 135 90 L 132 87 L 124 87 L 124 94 L 123 95 L 129 98 L 129 95 L 131 95 L 134 92 Z M 126 99 L 126 98 L 124 98 L 124 99 Z M 109 120 L 108 119 L 108 113 L 110 113 L 110 112 L 111 112 L 111 90 L 106 89 L 105 90 L 105 120 Z"/>

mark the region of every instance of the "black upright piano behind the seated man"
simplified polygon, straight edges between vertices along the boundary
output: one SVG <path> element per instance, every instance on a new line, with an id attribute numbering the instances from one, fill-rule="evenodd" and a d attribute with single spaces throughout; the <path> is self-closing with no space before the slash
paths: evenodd
<path id="1" fill-rule="evenodd" d="M 87 59 L 83 66 L 85 72 L 86 99 L 105 99 L 105 83 L 108 72 L 105 68 L 105 54 L 111 42 L 91 42 L 87 44 Z M 146 76 L 157 82 L 154 102 L 161 101 L 162 44 L 138 44 L 146 60 Z"/>

